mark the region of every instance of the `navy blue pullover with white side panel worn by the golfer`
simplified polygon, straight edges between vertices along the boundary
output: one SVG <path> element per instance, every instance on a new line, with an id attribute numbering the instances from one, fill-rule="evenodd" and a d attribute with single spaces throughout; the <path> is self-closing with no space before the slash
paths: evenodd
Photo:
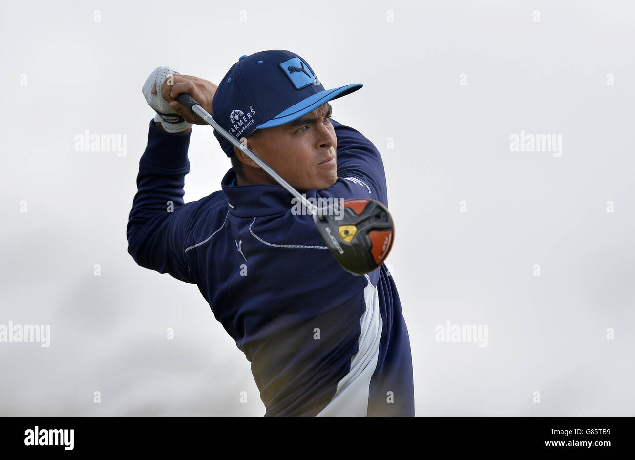
<path id="1" fill-rule="evenodd" d="M 377 148 L 331 122 L 338 180 L 307 197 L 387 206 Z M 414 416 L 410 339 L 385 264 L 346 272 L 312 217 L 292 212 L 289 192 L 236 187 L 233 169 L 222 190 L 184 203 L 191 133 L 150 121 L 126 231 L 135 262 L 198 286 L 251 362 L 265 416 Z"/>

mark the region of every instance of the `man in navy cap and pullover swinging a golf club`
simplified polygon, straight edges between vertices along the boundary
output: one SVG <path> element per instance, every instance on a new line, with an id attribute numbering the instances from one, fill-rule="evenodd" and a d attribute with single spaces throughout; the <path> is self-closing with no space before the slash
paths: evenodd
<path id="1" fill-rule="evenodd" d="M 232 169 L 222 190 L 183 201 L 191 126 L 204 124 L 175 100 L 189 93 L 307 198 L 387 205 L 377 148 L 331 117 L 329 101 L 362 85 L 324 89 L 304 59 L 280 49 L 241 56 L 218 87 L 174 74 L 156 69 L 144 85 L 157 115 L 139 163 L 128 252 L 197 284 L 251 362 L 265 416 L 413 416 L 410 339 L 385 265 L 346 272 L 311 215 L 216 131 Z"/>

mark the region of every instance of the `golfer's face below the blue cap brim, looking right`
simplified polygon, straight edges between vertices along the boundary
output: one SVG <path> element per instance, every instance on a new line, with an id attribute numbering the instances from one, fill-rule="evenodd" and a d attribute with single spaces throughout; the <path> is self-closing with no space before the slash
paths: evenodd
<path id="1" fill-rule="evenodd" d="M 327 102 L 300 119 L 263 129 L 255 153 L 297 190 L 324 190 L 337 181 L 337 137 Z"/>

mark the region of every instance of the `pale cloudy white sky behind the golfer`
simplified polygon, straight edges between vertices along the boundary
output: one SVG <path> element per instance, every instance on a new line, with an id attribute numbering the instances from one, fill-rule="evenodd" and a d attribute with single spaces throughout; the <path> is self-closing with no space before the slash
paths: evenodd
<path id="1" fill-rule="evenodd" d="M 364 84 L 331 105 L 384 158 L 418 416 L 635 414 L 632 2 L 3 1 L 0 13 L 0 324 L 51 325 L 49 348 L 0 343 L 0 414 L 264 414 L 197 287 L 135 265 L 125 230 L 150 72 L 218 83 L 265 49 L 302 56 L 325 88 Z M 77 152 L 86 130 L 126 135 L 126 155 Z M 562 135 L 561 157 L 511 152 L 521 130 Z M 189 158 L 186 202 L 230 167 L 206 126 Z M 488 346 L 439 343 L 446 321 L 488 325 Z"/>

